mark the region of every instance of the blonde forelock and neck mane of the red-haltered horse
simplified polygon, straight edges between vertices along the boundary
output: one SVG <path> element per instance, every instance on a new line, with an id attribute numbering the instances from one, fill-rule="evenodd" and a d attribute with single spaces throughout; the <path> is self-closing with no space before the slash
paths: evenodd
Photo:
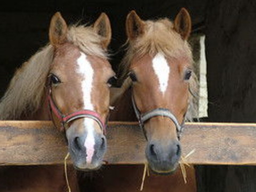
<path id="1" fill-rule="evenodd" d="M 107 58 L 103 37 L 92 27 L 70 26 L 67 41 L 85 54 Z M 0 119 L 20 119 L 34 114 L 44 103 L 46 81 L 54 57 L 52 45 L 46 45 L 18 69 L 0 103 Z"/>

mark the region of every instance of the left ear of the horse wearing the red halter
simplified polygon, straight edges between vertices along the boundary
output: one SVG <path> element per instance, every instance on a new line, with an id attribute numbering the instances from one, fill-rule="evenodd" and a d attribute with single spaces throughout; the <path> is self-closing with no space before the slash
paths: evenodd
<path id="1" fill-rule="evenodd" d="M 51 45 L 58 46 L 65 43 L 67 40 L 67 30 L 67 23 L 61 17 L 60 12 L 55 13 L 52 17 L 49 29 L 49 39 Z"/>

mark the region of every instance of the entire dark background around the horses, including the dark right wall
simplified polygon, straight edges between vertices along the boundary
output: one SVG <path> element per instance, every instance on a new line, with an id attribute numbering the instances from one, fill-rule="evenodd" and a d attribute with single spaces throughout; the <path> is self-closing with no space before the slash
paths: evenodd
<path id="1" fill-rule="evenodd" d="M 256 1 L 249 0 L 45 0 L 2 1 L 0 5 L 0 95 L 16 68 L 48 42 L 56 11 L 70 23 L 93 23 L 101 12 L 113 30 L 110 44 L 116 69 L 126 40 L 125 18 L 174 19 L 186 7 L 193 33 L 206 35 L 207 86 L 211 122 L 256 122 Z M 199 133 L 198 133 L 199 134 Z M 256 154 L 255 154 L 256 155 Z M 254 166 L 197 166 L 198 191 L 256 191 Z"/>

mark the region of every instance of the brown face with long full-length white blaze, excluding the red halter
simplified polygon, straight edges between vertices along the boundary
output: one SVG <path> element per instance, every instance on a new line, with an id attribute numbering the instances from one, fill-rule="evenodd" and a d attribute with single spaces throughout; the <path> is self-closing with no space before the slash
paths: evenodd
<path id="1" fill-rule="evenodd" d="M 55 29 L 59 26 L 63 29 L 66 25 L 60 17 L 53 19 L 57 20 L 53 21 Z M 102 23 L 100 26 L 102 27 Z M 74 44 L 61 42 L 59 35 L 63 31 L 57 32 L 53 30 L 55 34 L 52 33 L 51 36 L 50 29 L 50 40 L 55 47 L 55 54 L 49 78 L 55 105 L 63 115 L 87 109 L 97 112 L 101 119 L 107 119 L 109 79 L 115 75 L 109 62 L 101 57 L 85 54 Z M 59 123 L 54 115 L 53 121 Z M 106 138 L 94 119 L 83 117 L 71 121 L 66 127 L 66 137 L 69 154 L 77 169 L 86 171 L 100 167 L 106 151 Z"/>

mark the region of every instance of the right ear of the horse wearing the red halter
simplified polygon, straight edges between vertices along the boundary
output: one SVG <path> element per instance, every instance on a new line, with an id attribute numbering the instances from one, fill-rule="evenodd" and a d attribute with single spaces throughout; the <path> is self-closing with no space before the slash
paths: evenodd
<path id="1" fill-rule="evenodd" d="M 95 33 L 103 37 L 101 42 L 103 49 L 107 49 L 111 40 L 111 25 L 106 13 L 101 13 L 100 17 L 95 21 L 93 25 Z"/>

